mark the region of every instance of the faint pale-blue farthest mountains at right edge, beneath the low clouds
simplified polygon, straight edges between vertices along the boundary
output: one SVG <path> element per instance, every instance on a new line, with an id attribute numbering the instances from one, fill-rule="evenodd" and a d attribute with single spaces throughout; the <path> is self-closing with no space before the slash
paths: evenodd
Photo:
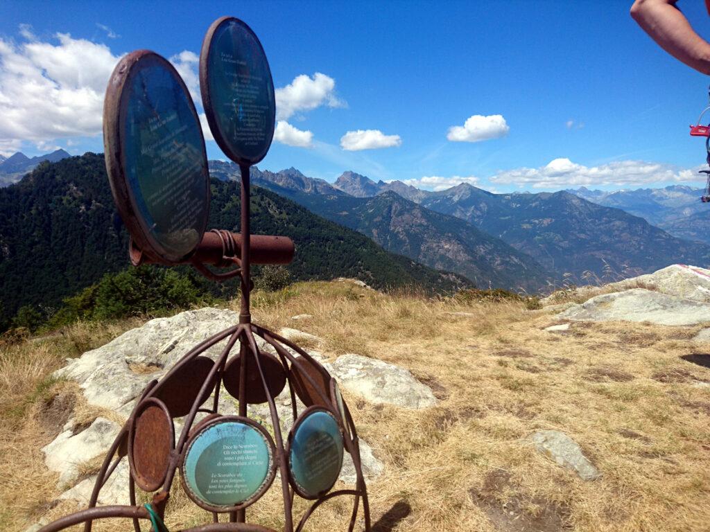
<path id="1" fill-rule="evenodd" d="M 641 216 L 670 234 L 710 243 L 710 204 L 702 203 L 704 189 L 671 185 L 662 189 L 601 191 L 569 190 L 596 204 Z"/>

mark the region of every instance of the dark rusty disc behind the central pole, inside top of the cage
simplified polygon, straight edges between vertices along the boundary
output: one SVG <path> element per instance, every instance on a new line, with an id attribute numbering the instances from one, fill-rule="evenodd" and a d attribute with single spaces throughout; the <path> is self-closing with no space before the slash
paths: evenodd
<path id="1" fill-rule="evenodd" d="M 281 393 L 286 385 L 286 372 L 281 365 L 280 360 L 271 353 L 260 353 L 258 355 L 261 370 L 263 371 L 266 385 L 268 386 L 271 397 L 276 397 Z M 241 355 L 236 355 L 232 358 L 224 368 L 222 382 L 226 391 L 231 397 L 239 399 L 239 373 L 241 372 Z M 246 402 L 249 404 L 266 403 L 268 397 L 261 382 L 261 376 L 256 367 L 251 353 L 246 358 Z"/>

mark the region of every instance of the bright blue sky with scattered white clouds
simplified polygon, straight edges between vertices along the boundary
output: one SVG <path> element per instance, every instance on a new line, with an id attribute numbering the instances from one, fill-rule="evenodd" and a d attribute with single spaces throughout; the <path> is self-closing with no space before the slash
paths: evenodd
<path id="1" fill-rule="evenodd" d="M 692 182 L 705 150 L 688 125 L 710 80 L 660 50 L 630 4 L 4 0 L 0 153 L 102 151 L 102 87 L 117 57 L 173 57 L 190 85 L 184 52 L 228 14 L 259 36 L 283 89 L 286 126 L 263 169 L 498 192 Z M 704 2 L 679 4 L 710 39 Z M 224 158 L 213 141 L 207 152 Z"/>

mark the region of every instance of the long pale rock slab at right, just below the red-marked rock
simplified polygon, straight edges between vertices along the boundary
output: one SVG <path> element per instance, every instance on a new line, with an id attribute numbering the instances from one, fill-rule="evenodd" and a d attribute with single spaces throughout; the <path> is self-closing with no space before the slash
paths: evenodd
<path id="1" fill-rule="evenodd" d="M 635 288 L 602 294 L 557 317 L 572 321 L 650 321 L 658 325 L 697 325 L 710 321 L 710 304 Z"/>

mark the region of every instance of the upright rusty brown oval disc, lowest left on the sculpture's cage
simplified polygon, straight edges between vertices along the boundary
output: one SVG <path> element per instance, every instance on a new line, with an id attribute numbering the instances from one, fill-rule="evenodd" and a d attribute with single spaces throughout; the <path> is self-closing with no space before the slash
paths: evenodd
<path id="1" fill-rule="evenodd" d="M 175 428 L 167 407 L 155 397 L 143 399 L 131 422 L 129 465 L 141 489 L 154 492 L 168 475 Z"/>

